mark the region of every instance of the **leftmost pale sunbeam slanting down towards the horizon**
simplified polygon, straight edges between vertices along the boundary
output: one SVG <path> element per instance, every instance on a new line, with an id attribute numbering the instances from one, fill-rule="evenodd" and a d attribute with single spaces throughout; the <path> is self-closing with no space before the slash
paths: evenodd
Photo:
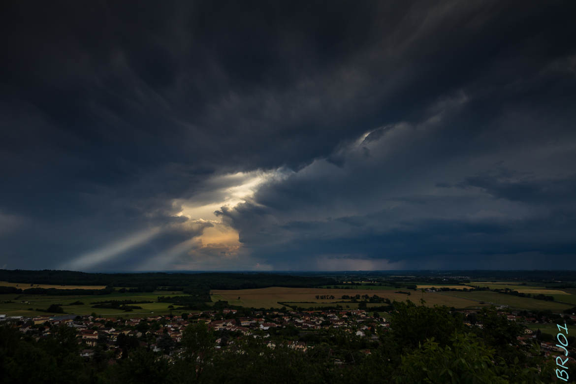
<path id="1" fill-rule="evenodd" d="M 160 227 L 154 227 L 136 234 L 132 234 L 131 236 L 123 238 L 120 241 L 104 246 L 104 248 L 86 253 L 82 256 L 79 256 L 78 258 L 75 258 L 74 260 L 68 261 L 62 264 L 60 268 L 71 269 L 75 271 L 84 271 L 85 269 L 90 269 L 97 264 L 112 260 L 112 258 L 119 256 L 120 254 L 126 252 L 128 249 L 144 244 L 154 236 L 158 235 L 160 232 Z"/>

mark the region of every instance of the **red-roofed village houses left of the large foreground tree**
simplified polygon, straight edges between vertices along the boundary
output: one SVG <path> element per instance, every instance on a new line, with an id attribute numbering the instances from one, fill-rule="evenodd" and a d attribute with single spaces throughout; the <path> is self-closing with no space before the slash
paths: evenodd
<path id="1" fill-rule="evenodd" d="M 140 347 L 150 348 L 154 352 L 166 352 L 170 355 L 178 353 L 178 345 L 183 337 L 184 329 L 194 323 L 204 322 L 207 328 L 214 331 L 217 338 L 214 348 L 221 349 L 232 345 L 234 339 L 252 337 L 266 340 L 270 348 L 276 347 L 276 341 L 271 338 L 275 330 L 291 327 L 298 331 L 339 328 L 345 332 L 354 333 L 358 337 L 371 337 L 377 340 L 376 329 L 386 328 L 389 323 L 385 318 L 372 317 L 365 310 L 350 311 L 253 311 L 251 317 L 237 317 L 236 309 L 221 311 L 203 311 L 194 314 L 158 315 L 145 318 L 104 318 L 90 316 L 38 316 L 25 318 L 22 316 L 5 317 L 0 315 L 0 321 L 9 322 L 21 333 L 40 339 L 51 334 L 51 328 L 67 325 L 75 330 L 78 343 L 82 345 L 81 355 L 89 358 L 97 346 L 107 351 L 114 351 L 116 358 L 122 358 L 124 344 L 137 341 Z M 287 341 L 286 346 L 305 351 L 306 343 Z"/>

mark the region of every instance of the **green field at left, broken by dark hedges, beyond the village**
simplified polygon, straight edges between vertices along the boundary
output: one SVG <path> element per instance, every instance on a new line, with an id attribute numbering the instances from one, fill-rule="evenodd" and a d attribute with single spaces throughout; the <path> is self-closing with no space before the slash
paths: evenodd
<path id="1" fill-rule="evenodd" d="M 150 312 L 154 314 L 169 314 L 168 308 L 170 303 L 156 302 L 158 296 L 176 296 L 183 295 L 178 291 L 155 291 L 149 293 L 112 293 L 109 295 L 78 295 L 78 296 L 46 296 L 46 295 L 22 295 L 22 294 L 3 294 L 0 295 L 0 314 L 9 316 L 25 315 L 54 315 L 36 309 L 47 309 L 52 304 L 62 304 L 62 309 L 66 314 L 89 315 L 95 312 L 98 315 L 122 316 L 122 317 L 142 317 Z M 135 309 L 131 312 L 124 312 L 119 309 L 92 308 L 92 302 L 107 300 L 134 300 L 134 301 L 152 301 L 152 303 L 134 304 L 141 306 L 142 309 Z M 12 303 L 6 303 L 12 301 Z M 69 305 L 70 303 L 81 301 L 83 305 Z M 29 309 L 33 309 L 32 311 Z M 183 311 L 172 311 L 173 314 L 180 314 Z M 189 312 L 189 311 L 188 311 Z"/>

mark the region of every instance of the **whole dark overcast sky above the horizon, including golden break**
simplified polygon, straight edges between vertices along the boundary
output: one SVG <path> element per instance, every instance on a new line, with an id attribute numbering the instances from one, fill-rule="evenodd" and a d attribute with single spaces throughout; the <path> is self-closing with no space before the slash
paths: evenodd
<path id="1" fill-rule="evenodd" d="M 0 268 L 576 269 L 573 1 L 10 3 Z"/>

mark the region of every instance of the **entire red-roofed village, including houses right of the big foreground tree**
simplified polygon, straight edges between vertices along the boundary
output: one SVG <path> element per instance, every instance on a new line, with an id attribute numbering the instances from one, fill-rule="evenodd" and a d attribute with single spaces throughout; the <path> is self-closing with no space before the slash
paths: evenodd
<path id="1" fill-rule="evenodd" d="M 478 326 L 475 311 L 461 310 L 466 319 L 465 325 Z M 550 317 L 525 311 L 499 311 L 508 321 L 522 323 L 551 324 L 560 314 Z M 301 341 L 303 335 L 310 335 L 322 330 L 338 329 L 340 332 L 361 341 L 362 352 L 369 354 L 370 348 L 377 347 L 378 335 L 388 332 L 390 323 L 386 321 L 387 313 L 378 314 L 369 310 L 305 310 L 294 311 L 286 308 L 270 310 L 248 310 L 223 308 L 221 310 L 202 311 L 198 313 L 176 315 L 153 315 L 143 318 L 105 318 L 93 314 L 89 316 L 60 315 L 6 317 L 0 315 L 0 324 L 9 324 L 22 334 L 39 340 L 48 337 L 54 327 L 66 325 L 73 329 L 80 344 L 80 354 L 89 359 L 95 352 L 107 351 L 110 362 L 126 357 L 128 349 L 144 347 L 151 351 L 170 356 L 177 356 L 183 350 L 181 340 L 188 325 L 203 323 L 213 331 L 213 348 L 225 349 L 242 338 L 258 339 L 267 347 L 274 349 L 282 345 L 287 348 L 306 351 L 314 348 L 314 343 Z M 576 316 L 566 316 L 566 321 L 573 324 Z M 526 328 L 525 334 L 518 337 L 522 343 L 536 339 L 539 332 Z M 310 338 L 308 338 L 310 339 Z M 313 339 L 313 338 L 312 338 Z M 541 350 L 546 356 L 558 355 L 562 351 L 555 340 L 540 340 Z M 570 361 L 574 359 L 570 356 Z M 339 360 L 335 359 L 338 364 Z"/>

